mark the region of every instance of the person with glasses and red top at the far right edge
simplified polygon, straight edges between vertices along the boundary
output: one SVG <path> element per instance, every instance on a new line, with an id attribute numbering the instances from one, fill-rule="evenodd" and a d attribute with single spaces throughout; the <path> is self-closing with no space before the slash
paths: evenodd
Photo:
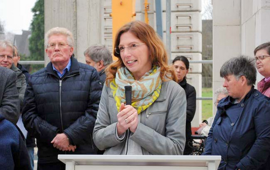
<path id="1" fill-rule="evenodd" d="M 257 70 L 265 77 L 258 83 L 258 90 L 267 97 L 270 97 L 270 42 L 256 47 L 254 55 Z"/>

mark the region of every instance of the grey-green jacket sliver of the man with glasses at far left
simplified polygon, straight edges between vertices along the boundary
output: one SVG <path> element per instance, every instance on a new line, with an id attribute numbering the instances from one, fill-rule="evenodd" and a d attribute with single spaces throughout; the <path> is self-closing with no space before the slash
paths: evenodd
<path id="1" fill-rule="evenodd" d="M 25 91 L 26 91 L 26 77 L 23 74 L 23 72 L 18 67 L 16 67 L 14 64 L 11 65 L 10 69 L 13 70 L 17 76 L 16 87 L 17 87 L 17 90 L 19 92 L 20 106 L 21 106 L 21 110 L 22 110 L 23 104 L 24 104 Z"/>

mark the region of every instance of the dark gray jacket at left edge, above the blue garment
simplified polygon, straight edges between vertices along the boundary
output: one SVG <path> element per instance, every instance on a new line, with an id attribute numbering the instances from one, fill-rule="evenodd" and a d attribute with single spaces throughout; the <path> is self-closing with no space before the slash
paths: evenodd
<path id="1" fill-rule="evenodd" d="M 0 114 L 16 124 L 20 115 L 20 103 L 14 71 L 0 67 Z"/>

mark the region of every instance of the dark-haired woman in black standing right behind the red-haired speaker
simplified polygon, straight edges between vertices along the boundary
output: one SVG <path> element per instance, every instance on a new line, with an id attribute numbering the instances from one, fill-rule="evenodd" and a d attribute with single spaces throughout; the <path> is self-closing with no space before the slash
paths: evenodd
<path id="1" fill-rule="evenodd" d="M 177 75 L 177 83 L 184 88 L 187 98 L 187 119 L 186 119 L 186 145 L 184 155 L 192 154 L 191 145 L 191 121 L 196 112 L 196 90 L 192 85 L 187 83 L 187 74 L 189 72 L 189 60 L 185 56 L 177 56 L 173 59 L 172 64 Z"/>

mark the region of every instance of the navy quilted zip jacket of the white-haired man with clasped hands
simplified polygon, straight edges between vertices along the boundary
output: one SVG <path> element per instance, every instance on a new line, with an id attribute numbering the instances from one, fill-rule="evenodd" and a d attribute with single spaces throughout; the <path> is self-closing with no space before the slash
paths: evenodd
<path id="1" fill-rule="evenodd" d="M 23 122 L 37 139 L 38 162 L 57 162 L 58 154 L 96 154 L 92 142 L 102 85 L 95 68 L 71 57 L 70 70 L 59 78 L 50 62 L 27 82 Z M 75 152 L 63 152 L 51 141 L 65 133 Z"/>

